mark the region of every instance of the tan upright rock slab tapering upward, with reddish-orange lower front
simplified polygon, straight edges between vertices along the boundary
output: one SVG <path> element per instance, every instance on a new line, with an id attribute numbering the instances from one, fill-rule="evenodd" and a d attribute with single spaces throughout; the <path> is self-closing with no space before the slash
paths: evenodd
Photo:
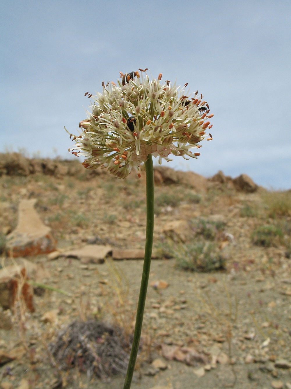
<path id="1" fill-rule="evenodd" d="M 42 223 L 34 205 L 36 199 L 21 200 L 18 208 L 18 223 L 7 235 L 6 249 L 14 257 L 48 254 L 55 251 L 56 241 L 50 227 Z"/>

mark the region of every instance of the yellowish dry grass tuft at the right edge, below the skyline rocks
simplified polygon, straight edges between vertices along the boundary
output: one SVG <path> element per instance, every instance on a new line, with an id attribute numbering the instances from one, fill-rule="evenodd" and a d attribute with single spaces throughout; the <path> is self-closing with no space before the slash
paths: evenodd
<path id="1" fill-rule="evenodd" d="M 267 207 L 267 216 L 291 216 L 291 192 L 267 192 L 263 195 L 263 202 Z"/>

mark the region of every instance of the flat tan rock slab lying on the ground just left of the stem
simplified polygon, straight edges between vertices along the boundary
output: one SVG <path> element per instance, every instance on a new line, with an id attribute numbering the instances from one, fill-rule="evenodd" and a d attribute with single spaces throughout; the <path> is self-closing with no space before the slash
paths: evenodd
<path id="1" fill-rule="evenodd" d="M 80 259 L 82 263 L 103 263 L 106 256 L 112 255 L 110 246 L 88 244 L 81 249 L 63 252 L 62 256 Z"/>

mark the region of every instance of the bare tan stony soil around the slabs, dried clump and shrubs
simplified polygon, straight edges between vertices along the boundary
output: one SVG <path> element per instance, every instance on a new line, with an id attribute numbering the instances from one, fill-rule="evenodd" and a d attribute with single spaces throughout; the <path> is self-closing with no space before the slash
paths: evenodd
<path id="1" fill-rule="evenodd" d="M 16 226 L 19 200 L 36 198 L 36 210 L 52 227 L 59 249 L 90 242 L 144 247 L 143 178 L 2 175 L 0 188 L 2 237 Z M 156 185 L 154 245 L 160 259 L 152 260 L 149 282 L 163 280 L 168 286 L 149 286 L 132 388 L 291 388 L 291 207 L 276 208 L 274 213 L 273 198 L 282 194 L 262 188 L 254 193 L 237 191 L 230 180 L 205 180 L 202 189 L 185 183 Z M 212 228 L 211 236 L 195 227 L 201 219 Z M 176 220 L 194 228 L 167 236 L 165 225 Z M 262 225 L 279 228 L 282 236 L 278 233 L 270 242 L 256 242 L 253 231 Z M 196 240 L 216 245 L 224 269 L 210 272 L 203 256 L 198 264 L 203 272 L 183 268 L 188 255 L 185 247 Z M 173 258 L 165 258 L 169 253 Z M 122 375 L 101 380 L 95 375 L 88 378 L 76 367 L 59 370 L 48 347 L 60 329 L 76 319 L 111 322 L 130 338 L 142 260 L 107 259 L 103 264 L 84 265 L 64 257 L 48 260 L 47 255 L 27 259 L 47 272 L 43 283 L 70 296 L 38 290 L 42 295 L 34 296 L 34 313 L 21 312 L 17 304 L 14 312 L 0 312 L 0 350 L 9 353 L 17 348 L 19 356 L 2 364 L 0 387 L 121 388 Z M 44 316 L 47 312 L 49 319 Z M 195 348 L 210 361 L 221 351 L 220 358 L 209 371 L 201 370 L 205 363 L 189 366 L 166 359 L 165 345 Z M 152 368 L 156 358 L 165 363 L 165 370 Z M 285 368 L 276 367 L 280 359 L 285 360 Z"/>

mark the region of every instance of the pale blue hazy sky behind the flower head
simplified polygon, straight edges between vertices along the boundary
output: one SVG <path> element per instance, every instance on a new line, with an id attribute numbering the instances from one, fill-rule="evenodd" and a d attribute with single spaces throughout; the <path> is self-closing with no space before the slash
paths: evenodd
<path id="1" fill-rule="evenodd" d="M 149 68 L 208 101 L 213 140 L 166 166 L 291 188 L 291 2 L 1 1 L 0 151 L 68 157 L 84 93 Z"/>

